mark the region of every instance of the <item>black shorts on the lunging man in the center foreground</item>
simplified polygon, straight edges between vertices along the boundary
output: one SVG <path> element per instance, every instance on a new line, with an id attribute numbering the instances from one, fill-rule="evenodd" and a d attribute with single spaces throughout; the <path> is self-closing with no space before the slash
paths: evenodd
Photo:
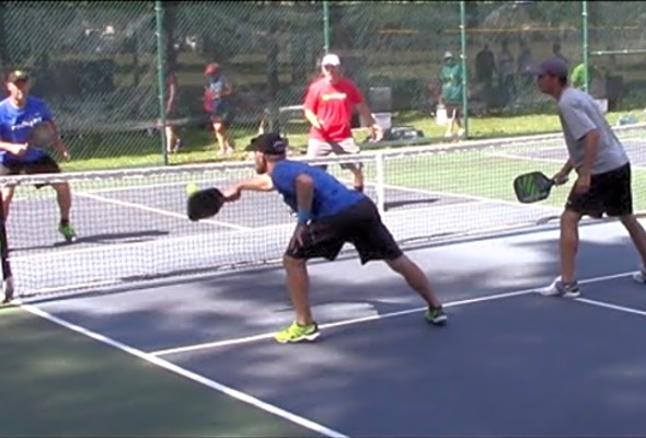
<path id="1" fill-rule="evenodd" d="M 336 258 L 345 243 L 351 243 L 366 264 L 373 260 L 395 260 L 402 250 L 385 228 L 374 204 L 366 198 L 342 212 L 310 222 L 303 233 L 302 246 L 288 246 L 286 255 L 309 260 Z"/>

